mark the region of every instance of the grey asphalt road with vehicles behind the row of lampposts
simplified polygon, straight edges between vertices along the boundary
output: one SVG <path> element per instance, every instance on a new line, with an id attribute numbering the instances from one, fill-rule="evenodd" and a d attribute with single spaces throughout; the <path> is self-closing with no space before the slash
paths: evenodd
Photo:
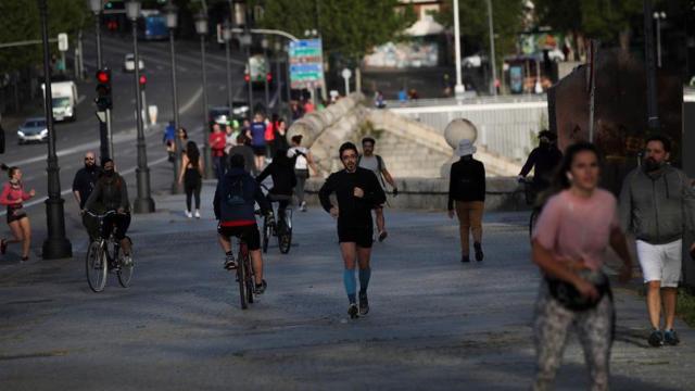
<path id="1" fill-rule="evenodd" d="M 113 77 L 113 134 L 114 159 L 117 169 L 125 174 L 129 185 L 129 194 L 135 199 L 137 166 L 136 121 L 135 121 L 135 80 L 131 73 L 125 73 L 123 60 L 126 53 L 132 52 L 132 42 L 117 36 L 102 36 L 102 55 L 105 66 L 112 70 Z M 202 75 L 200 46 L 197 42 L 181 41 L 177 43 L 177 79 L 179 96 L 179 115 L 181 126 L 189 130 L 193 141 L 202 147 L 202 125 L 206 114 L 202 108 Z M 93 36 L 86 34 L 84 40 L 85 66 L 88 75 L 97 68 L 96 42 Z M 150 167 L 150 180 L 153 192 L 168 191 L 173 181 L 172 164 L 166 162 L 166 152 L 162 144 L 162 131 L 165 124 L 173 118 L 173 98 L 170 90 L 169 46 L 166 42 L 139 42 L 139 52 L 144 62 L 144 74 L 148 76 L 146 87 L 147 104 L 159 109 L 157 124 L 146 128 L 147 154 Z M 226 60 L 224 50 L 216 43 L 207 47 L 207 96 L 208 106 L 225 105 L 227 102 Z M 248 99 L 243 83 L 243 56 L 232 52 L 231 56 L 232 89 L 235 101 Z M 99 123 L 92 103 L 96 97 L 96 81 L 92 79 L 78 84 L 79 104 L 77 121 L 74 123 L 56 123 L 56 150 L 59 155 L 61 190 L 66 203 L 66 226 L 68 234 L 73 229 L 79 231 L 76 218 L 76 205 L 71 193 L 72 180 L 83 166 L 86 151 L 99 153 Z M 254 91 L 254 101 L 264 99 L 263 91 Z M 41 116 L 42 110 L 29 116 Z M 46 237 L 45 207 L 42 200 L 48 193 L 47 180 L 47 144 L 24 144 L 16 142 L 16 126 L 23 117 L 3 117 L 7 133 L 7 151 L 1 161 L 8 165 L 16 165 L 24 172 L 27 189 L 36 189 L 37 197 L 27 203 L 34 227 L 36 254 L 40 254 L 41 242 Z M 131 200 L 132 201 L 132 200 Z M 0 212 L 3 215 L 3 212 Z"/>

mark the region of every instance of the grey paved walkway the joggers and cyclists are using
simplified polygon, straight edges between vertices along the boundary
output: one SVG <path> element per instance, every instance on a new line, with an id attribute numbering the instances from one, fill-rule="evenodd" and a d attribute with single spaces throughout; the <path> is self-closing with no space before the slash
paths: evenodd
<path id="1" fill-rule="evenodd" d="M 2 269 L 0 389 L 529 388 L 539 273 L 526 214 L 485 216 L 486 258 L 462 265 L 453 220 L 389 210 L 371 313 L 350 320 L 334 222 L 323 211 L 295 214 L 295 244 L 288 255 L 269 249 L 268 291 L 242 312 L 211 211 L 188 220 L 182 205 L 182 195 L 164 197 L 159 213 L 135 217 L 127 290 L 111 279 L 92 293 L 77 240 L 75 260 Z M 692 389 L 695 332 L 679 324 L 681 346 L 649 349 L 643 300 L 621 288 L 616 300 L 612 388 Z M 587 388 L 574 339 L 557 388 Z"/>

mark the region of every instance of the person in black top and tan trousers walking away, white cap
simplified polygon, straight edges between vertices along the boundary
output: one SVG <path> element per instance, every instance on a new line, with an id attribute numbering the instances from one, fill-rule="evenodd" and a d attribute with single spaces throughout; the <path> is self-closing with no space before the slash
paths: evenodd
<path id="1" fill-rule="evenodd" d="M 482 253 L 482 213 L 485 206 L 485 167 L 473 159 L 476 147 L 470 140 L 458 143 L 456 155 L 460 160 L 452 164 L 448 181 L 448 217 L 458 216 L 460 230 L 460 262 L 470 262 L 469 235 L 472 231 L 476 261 Z"/>

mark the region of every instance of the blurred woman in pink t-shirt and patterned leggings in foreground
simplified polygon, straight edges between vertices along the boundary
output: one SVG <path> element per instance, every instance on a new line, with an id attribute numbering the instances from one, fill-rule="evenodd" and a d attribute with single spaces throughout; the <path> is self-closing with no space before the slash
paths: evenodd
<path id="1" fill-rule="evenodd" d="M 598 189 L 596 148 L 580 142 L 565 153 L 551 197 L 533 232 L 533 262 L 541 268 L 535 306 L 534 390 L 553 386 L 570 328 L 584 349 L 592 390 L 608 389 L 608 363 L 615 308 L 608 278 L 602 272 L 611 247 L 623 262 L 621 280 L 632 273 L 626 237 L 618 224 L 616 198 Z"/>

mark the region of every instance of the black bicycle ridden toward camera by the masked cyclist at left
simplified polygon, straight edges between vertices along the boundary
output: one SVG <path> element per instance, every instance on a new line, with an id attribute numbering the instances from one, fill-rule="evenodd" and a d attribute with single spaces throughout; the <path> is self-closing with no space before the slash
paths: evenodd
<path id="1" fill-rule="evenodd" d="M 135 262 L 132 261 L 132 240 L 126 236 L 126 239 L 130 242 L 130 262 L 126 263 L 124 261 L 125 254 L 121 251 L 121 242 L 114 235 L 117 228 L 113 227 L 108 238 L 102 237 L 104 219 L 108 216 L 116 214 L 116 212 L 109 211 L 104 214 L 86 213 L 99 219 L 99 234 L 98 237 L 89 243 L 85 262 L 89 288 L 94 292 L 103 291 L 106 286 L 109 273 L 115 273 L 118 277 L 118 283 L 123 288 L 128 288 L 135 268 Z"/>

